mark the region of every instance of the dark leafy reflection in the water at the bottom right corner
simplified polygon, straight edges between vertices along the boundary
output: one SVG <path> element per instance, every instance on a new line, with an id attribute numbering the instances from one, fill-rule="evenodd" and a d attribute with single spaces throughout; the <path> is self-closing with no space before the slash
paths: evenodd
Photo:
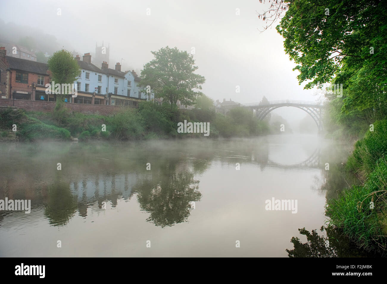
<path id="1" fill-rule="evenodd" d="M 320 228 L 320 231 L 326 231 L 327 237 L 319 236 L 317 230 L 312 232 L 305 228 L 298 229 L 300 234 L 307 237 L 306 243 L 301 243 L 298 237 L 292 237 L 293 250 L 286 249 L 289 257 L 375 257 L 365 251 L 360 250 L 347 238 L 342 231 L 330 226 Z"/>

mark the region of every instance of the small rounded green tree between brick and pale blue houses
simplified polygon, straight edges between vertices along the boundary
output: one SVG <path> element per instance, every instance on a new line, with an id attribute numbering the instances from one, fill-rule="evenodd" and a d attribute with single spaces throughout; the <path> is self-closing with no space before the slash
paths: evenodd
<path id="1" fill-rule="evenodd" d="M 79 65 L 70 51 L 62 49 L 55 52 L 47 63 L 55 84 L 73 84 L 79 76 Z"/>

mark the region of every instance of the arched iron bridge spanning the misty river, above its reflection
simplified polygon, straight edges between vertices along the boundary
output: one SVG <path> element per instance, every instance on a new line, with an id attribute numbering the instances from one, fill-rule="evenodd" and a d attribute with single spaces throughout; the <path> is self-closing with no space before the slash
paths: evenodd
<path id="1" fill-rule="evenodd" d="M 256 115 L 260 120 L 263 120 L 266 115 L 268 115 L 272 110 L 276 108 L 281 108 L 283 106 L 294 106 L 295 108 L 302 109 L 303 111 L 307 112 L 310 116 L 312 116 L 319 131 L 322 130 L 321 110 L 323 106 L 315 102 L 285 100 L 285 101 L 270 101 L 265 104 L 251 103 L 251 104 L 244 104 L 243 106 L 250 108 L 252 110 L 255 109 Z"/>

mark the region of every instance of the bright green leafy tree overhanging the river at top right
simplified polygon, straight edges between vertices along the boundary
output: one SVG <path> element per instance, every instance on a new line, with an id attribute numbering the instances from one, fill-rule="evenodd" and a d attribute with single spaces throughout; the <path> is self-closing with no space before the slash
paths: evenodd
<path id="1" fill-rule="evenodd" d="M 328 130 L 354 135 L 363 131 L 366 123 L 386 117 L 385 3 L 296 0 L 286 6 L 276 29 L 285 38 L 286 53 L 297 64 L 294 69 L 300 71 L 298 82 L 310 80 L 306 89 L 318 82 L 343 84 L 342 98 L 327 96 L 336 118 L 328 119 Z"/>

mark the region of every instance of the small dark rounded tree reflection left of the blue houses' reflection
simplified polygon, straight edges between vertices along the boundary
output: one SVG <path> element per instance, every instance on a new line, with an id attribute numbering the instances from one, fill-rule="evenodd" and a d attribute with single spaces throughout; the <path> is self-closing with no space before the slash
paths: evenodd
<path id="1" fill-rule="evenodd" d="M 57 181 L 48 186 L 45 216 L 51 225 L 64 226 L 75 214 L 77 200 L 68 183 Z"/>

